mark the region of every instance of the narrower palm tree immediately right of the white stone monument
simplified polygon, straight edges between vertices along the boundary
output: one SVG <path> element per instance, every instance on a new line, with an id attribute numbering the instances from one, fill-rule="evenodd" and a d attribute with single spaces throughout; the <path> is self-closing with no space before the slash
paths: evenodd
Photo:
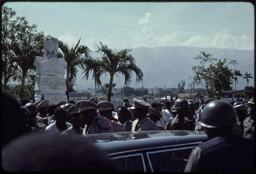
<path id="1" fill-rule="evenodd" d="M 67 66 L 66 66 L 67 101 L 69 101 L 69 85 L 73 84 L 76 81 L 76 74 L 78 72 L 77 67 L 82 69 L 85 58 L 89 58 L 91 53 L 91 50 L 87 46 L 79 45 L 80 39 L 76 44 L 76 46 L 75 47 L 72 46 L 71 48 L 67 45 L 67 43 L 63 43 L 62 41 L 59 41 L 59 49 L 61 49 L 62 52 L 58 51 L 58 57 L 64 58 L 67 63 Z"/>

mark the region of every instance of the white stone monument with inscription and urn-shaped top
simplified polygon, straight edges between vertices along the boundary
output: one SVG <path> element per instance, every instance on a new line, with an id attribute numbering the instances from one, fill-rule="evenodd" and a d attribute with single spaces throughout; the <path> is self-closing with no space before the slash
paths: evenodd
<path id="1" fill-rule="evenodd" d="M 59 41 L 54 37 L 43 39 L 43 57 L 35 58 L 37 79 L 34 90 L 35 101 L 41 100 L 42 95 L 50 103 L 67 101 L 65 67 L 67 63 L 64 58 L 58 58 Z"/>

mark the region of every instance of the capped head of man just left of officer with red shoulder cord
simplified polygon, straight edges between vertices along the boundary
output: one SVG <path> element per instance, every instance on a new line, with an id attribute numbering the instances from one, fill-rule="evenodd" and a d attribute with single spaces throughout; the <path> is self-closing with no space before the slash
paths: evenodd
<path id="1" fill-rule="evenodd" d="M 76 129 L 80 129 L 82 121 L 80 114 L 78 114 L 78 107 L 76 107 L 76 105 L 72 105 L 67 109 L 67 116 L 69 117 L 72 126 Z"/>

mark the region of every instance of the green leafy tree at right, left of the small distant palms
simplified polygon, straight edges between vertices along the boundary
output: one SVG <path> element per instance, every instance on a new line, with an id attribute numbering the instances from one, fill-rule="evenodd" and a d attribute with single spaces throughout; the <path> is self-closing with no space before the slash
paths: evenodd
<path id="1" fill-rule="evenodd" d="M 237 64 L 236 60 L 227 62 L 228 58 L 217 60 L 217 58 L 213 58 L 213 55 L 205 52 L 200 53 L 200 55 L 194 57 L 195 60 L 200 60 L 200 65 L 192 67 L 192 71 L 195 74 L 193 79 L 196 84 L 200 84 L 204 80 L 209 97 L 220 99 L 223 90 L 232 89 L 230 85 L 232 84 L 233 73 L 228 68 L 228 65 Z M 207 68 L 205 67 L 206 63 L 210 63 Z"/>

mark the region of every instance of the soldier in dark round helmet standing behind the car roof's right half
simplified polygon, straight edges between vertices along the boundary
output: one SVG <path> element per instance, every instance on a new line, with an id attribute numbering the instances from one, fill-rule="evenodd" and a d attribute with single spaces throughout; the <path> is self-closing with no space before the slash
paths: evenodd
<path id="1" fill-rule="evenodd" d="M 191 130 L 189 123 L 185 117 L 189 116 L 189 103 L 185 99 L 177 99 L 175 101 L 174 110 L 177 110 L 176 117 L 172 120 L 170 130 Z"/>

